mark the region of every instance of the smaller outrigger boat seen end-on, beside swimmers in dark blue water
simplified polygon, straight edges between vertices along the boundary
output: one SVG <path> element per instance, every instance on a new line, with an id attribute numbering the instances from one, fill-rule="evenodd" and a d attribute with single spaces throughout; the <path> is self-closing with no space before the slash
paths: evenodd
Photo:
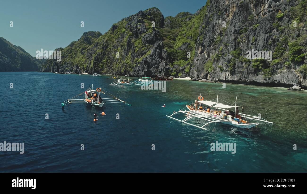
<path id="1" fill-rule="evenodd" d="M 84 94 L 84 98 L 81 99 L 80 96 Z M 109 95 L 112 98 L 101 98 L 102 94 Z M 110 94 L 109 92 L 105 91 L 104 89 L 97 87 L 96 90 L 92 87 L 87 88 L 85 92 L 78 94 L 64 102 L 61 103 L 62 107 L 71 103 L 85 103 L 91 104 L 92 108 L 95 107 L 102 107 L 105 103 L 125 103 L 129 106 L 131 104 L 126 103 L 125 101 L 115 97 L 114 95 Z"/>

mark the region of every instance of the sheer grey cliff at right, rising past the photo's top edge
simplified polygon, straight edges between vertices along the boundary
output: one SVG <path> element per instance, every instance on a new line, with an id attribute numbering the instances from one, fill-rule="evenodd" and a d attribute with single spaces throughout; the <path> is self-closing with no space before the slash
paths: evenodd
<path id="1" fill-rule="evenodd" d="M 306 85 L 306 2 L 210 1 L 190 76 L 225 82 Z M 272 61 L 247 51 L 272 51 Z"/>

